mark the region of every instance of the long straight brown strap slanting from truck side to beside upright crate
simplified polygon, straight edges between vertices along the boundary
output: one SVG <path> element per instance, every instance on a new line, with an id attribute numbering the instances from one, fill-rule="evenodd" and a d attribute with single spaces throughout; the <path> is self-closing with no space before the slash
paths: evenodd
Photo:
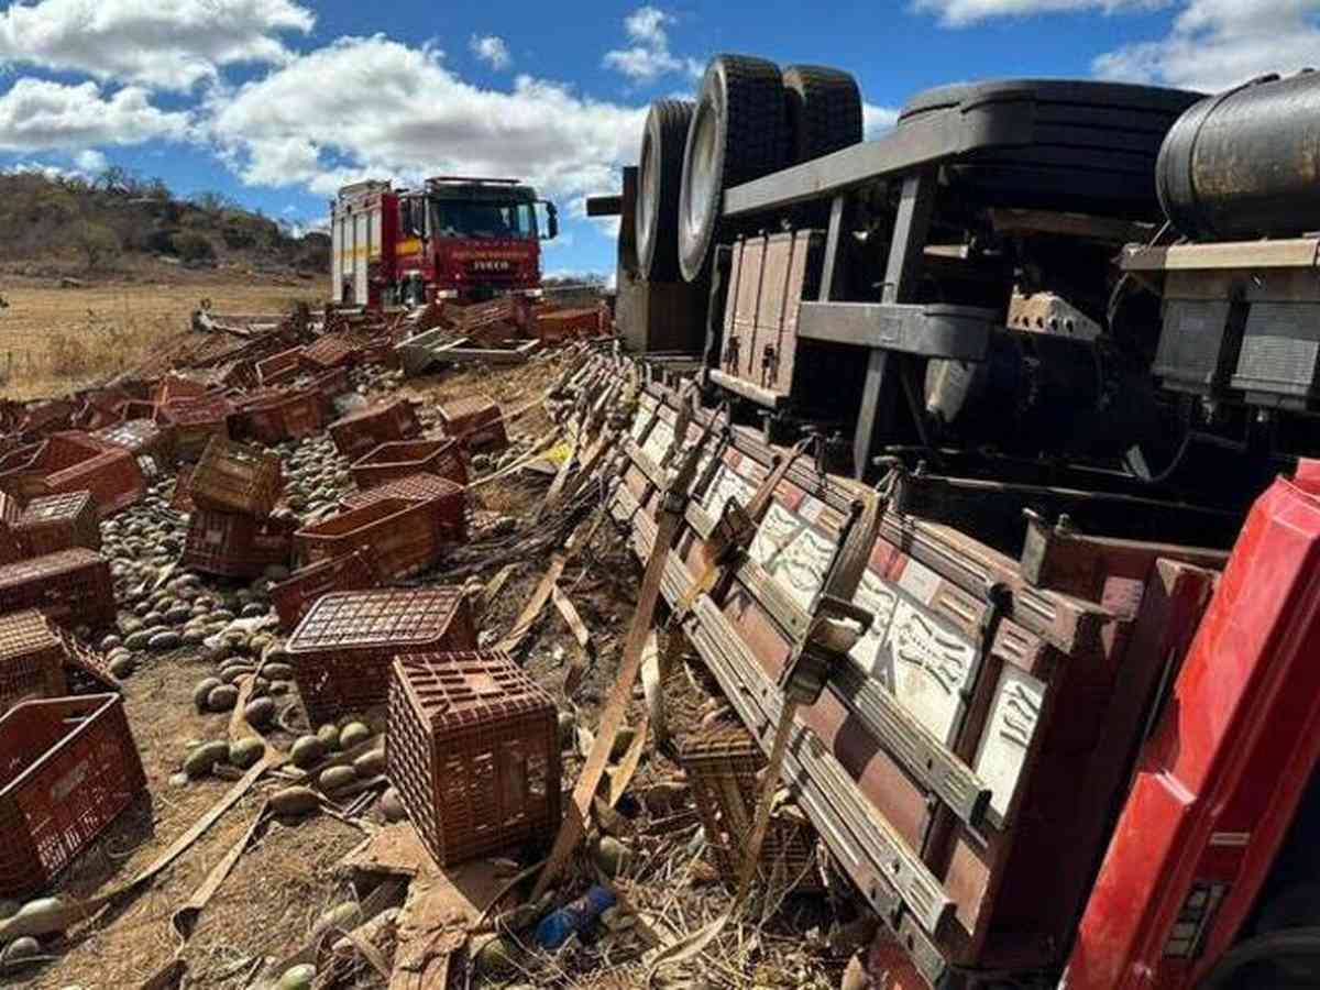
<path id="1" fill-rule="evenodd" d="M 619 660 L 619 672 L 610 690 L 610 697 L 601 711 L 601 721 L 597 727 L 595 742 L 591 752 L 586 758 L 582 772 L 578 775 L 577 785 L 569 808 L 560 824 L 560 832 L 554 837 L 554 847 L 545 862 L 545 869 L 536 880 L 532 891 L 532 900 L 540 898 L 550 882 L 558 875 L 577 843 L 586 834 L 587 816 L 591 809 L 591 799 L 595 796 L 601 779 L 605 776 L 605 767 L 614 748 L 614 739 L 623 726 L 624 709 L 632 698 L 632 685 L 638 680 L 642 669 L 642 659 L 647 636 L 651 632 L 651 619 L 655 615 L 656 605 L 660 599 L 660 582 L 664 578 L 665 564 L 669 561 L 669 549 L 682 527 L 684 512 L 690 498 L 690 487 L 697 474 L 697 462 L 701 459 L 701 450 L 705 446 L 710 432 L 704 430 L 701 437 L 682 455 L 677 471 L 665 487 L 660 499 L 659 524 L 656 539 L 651 548 L 651 557 L 647 560 L 645 570 L 642 574 L 642 587 L 638 591 L 636 610 L 632 612 L 632 622 L 628 626 L 628 635 L 623 643 L 623 655 Z"/>

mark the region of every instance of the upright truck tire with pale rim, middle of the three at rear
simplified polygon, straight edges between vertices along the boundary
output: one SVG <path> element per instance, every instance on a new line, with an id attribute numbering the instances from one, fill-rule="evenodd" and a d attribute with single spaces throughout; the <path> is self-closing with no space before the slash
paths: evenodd
<path id="1" fill-rule="evenodd" d="M 775 172 L 784 160 L 784 86 L 779 66 L 748 55 L 715 55 L 697 90 L 682 153 L 678 265 L 700 281 L 710 260 L 723 194 Z"/>

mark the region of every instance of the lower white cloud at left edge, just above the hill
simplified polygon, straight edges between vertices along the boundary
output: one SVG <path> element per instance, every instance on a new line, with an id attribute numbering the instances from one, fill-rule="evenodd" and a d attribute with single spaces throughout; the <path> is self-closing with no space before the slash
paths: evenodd
<path id="1" fill-rule="evenodd" d="M 158 110 L 132 86 L 106 98 L 94 82 L 66 86 L 28 77 L 0 95 L 0 150 L 182 140 L 189 123 L 187 114 Z"/>

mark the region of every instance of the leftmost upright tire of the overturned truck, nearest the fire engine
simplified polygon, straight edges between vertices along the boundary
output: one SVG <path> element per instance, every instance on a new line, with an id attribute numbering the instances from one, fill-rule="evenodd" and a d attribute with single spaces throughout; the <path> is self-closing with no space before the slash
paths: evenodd
<path id="1" fill-rule="evenodd" d="M 656 100 L 647 114 L 638 170 L 638 268 L 647 281 L 678 279 L 678 191 L 692 100 Z"/>

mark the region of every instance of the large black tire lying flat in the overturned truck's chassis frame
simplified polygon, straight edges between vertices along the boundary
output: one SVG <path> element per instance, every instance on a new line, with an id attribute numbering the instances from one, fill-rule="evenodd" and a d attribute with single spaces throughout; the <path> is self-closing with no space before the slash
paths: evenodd
<path id="1" fill-rule="evenodd" d="M 1200 94 L 1082 79 L 940 86 L 913 96 L 898 127 L 935 114 L 994 114 L 1030 103 L 1036 143 L 968 156 L 944 169 L 973 206 L 1060 210 L 1158 222 L 1155 161 L 1164 135 Z"/>

